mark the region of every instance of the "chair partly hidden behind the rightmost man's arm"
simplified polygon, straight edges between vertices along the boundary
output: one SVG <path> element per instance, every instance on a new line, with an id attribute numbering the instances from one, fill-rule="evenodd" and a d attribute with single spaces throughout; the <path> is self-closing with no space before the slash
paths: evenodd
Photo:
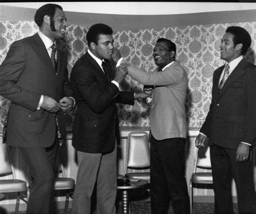
<path id="1" fill-rule="evenodd" d="M 210 147 L 196 150 L 194 170 L 190 179 L 190 213 L 193 211 L 193 184 L 213 184 L 212 172 L 197 172 L 197 169 L 211 169 Z"/>

